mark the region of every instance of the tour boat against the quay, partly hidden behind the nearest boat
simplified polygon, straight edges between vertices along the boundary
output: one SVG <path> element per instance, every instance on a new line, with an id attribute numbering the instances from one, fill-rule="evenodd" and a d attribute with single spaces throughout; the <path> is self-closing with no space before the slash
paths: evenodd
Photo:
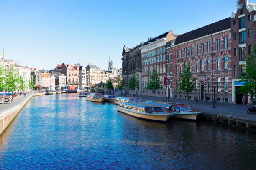
<path id="1" fill-rule="evenodd" d="M 154 101 L 145 101 L 143 103 L 160 105 L 160 106 L 166 107 L 167 112 L 174 114 L 171 116 L 173 118 L 196 120 L 197 115 L 200 114 L 200 112 L 197 112 L 197 110 L 194 110 L 191 105 L 166 103 L 166 102 L 154 102 Z"/>

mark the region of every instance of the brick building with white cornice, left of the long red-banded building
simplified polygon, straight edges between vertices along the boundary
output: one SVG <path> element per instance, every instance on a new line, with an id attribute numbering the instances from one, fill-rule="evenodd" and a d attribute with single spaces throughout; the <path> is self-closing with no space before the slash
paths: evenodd
<path id="1" fill-rule="evenodd" d="M 155 38 L 149 38 L 147 42 L 140 47 L 141 50 L 141 67 L 142 67 L 142 83 L 144 95 L 154 95 L 151 90 L 147 90 L 149 77 L 156 70 L 161 83 L 161 90 L 156 91 L 158 96 L 166 96 L 166 42 L 174 40 L 177 35 L 171 30 L 159 35 Z"/>

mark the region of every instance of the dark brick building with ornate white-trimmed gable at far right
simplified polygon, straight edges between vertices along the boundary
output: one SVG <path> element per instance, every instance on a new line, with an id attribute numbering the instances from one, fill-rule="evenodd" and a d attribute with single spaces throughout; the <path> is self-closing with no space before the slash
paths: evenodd
<path id="1" fill-rule="evenodd" d="M 248 0 L 237 0 L 236 13 L 231 15 L 232 38 L 232 101 L 241 104 L 245 95 L 250 102 L 248 94 L 238 94 L 244 82 L 238 83 L 238 77 L 243 74 L 242 65 L 246 64 L 246 55 L 253 52 L 256 42 L 256 4 Z"/>

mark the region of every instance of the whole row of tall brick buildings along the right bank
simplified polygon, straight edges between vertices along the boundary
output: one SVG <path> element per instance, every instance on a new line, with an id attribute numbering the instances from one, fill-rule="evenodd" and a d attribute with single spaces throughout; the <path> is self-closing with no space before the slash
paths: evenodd
<path id="1" fill-rule="evenodd" d="M 146 89 L 153 69 L 158 73 L 162 89 L 159 96 L 186 98 L 179 91 L 179 75 L 184 61 L 191 68 L 195 89 L 189 99 L 197 95 L 205 100 L 215 97 L 220 102 L 241 103 L 243 95 L 238 90 L 244 82 L 238 82 L 243 74 L 246 55 L 251 54 L 256 42 L 256 4 L 237 0 L 237 10 L 231 17 L 202 28 L 174 34 L 171 30 L 157 37 L 150 37 L 133 48 L 124 45 L 122 52 L 123 80 L 128 85 L 136 71 L 140 88 L 138 93 L 153 95 Z"/>

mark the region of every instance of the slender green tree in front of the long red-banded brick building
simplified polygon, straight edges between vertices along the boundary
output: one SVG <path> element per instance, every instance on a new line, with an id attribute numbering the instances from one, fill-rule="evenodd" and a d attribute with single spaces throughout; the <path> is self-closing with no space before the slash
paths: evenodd
<path id="1" fill-rule="evenodd" d="M 187 93 L 187 104 L 189 102 L 188 94 L 194 90 L 194 81 L 195 78 L 193 77 L 192 71 L 190 71 L 190 67 L 187 66 L 186 61 L 184 61 L 184 70 L 180 75 L 179 90 L 180 92 L 183 91 Z"/>

